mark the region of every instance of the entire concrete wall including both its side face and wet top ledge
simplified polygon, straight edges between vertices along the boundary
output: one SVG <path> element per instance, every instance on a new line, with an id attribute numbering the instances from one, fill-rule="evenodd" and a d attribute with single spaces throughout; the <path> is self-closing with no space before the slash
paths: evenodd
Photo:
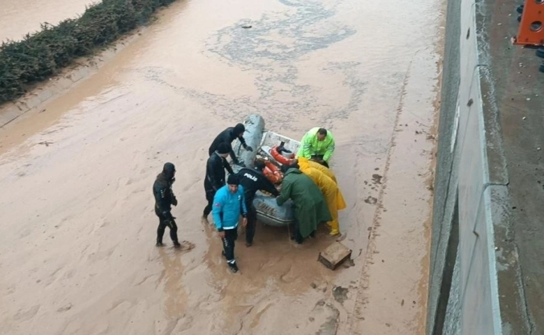
<path id="1" fill-rule="evenodd" d="M 544 76 L 513 3 L 448 2 L 427 333 L 542 334 Z"/>

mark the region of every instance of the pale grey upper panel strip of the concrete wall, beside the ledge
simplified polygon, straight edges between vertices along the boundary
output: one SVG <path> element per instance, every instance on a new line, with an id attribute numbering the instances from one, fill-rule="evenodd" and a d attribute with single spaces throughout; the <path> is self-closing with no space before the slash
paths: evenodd
<path id="1" fill-rule="evenodd" d="M 459 265 L 462 334 L 500 334 L 501 321 L 490 185 L 486 153 L 476 3 L 461 1 L 460 87 L 458 96 Z"/>

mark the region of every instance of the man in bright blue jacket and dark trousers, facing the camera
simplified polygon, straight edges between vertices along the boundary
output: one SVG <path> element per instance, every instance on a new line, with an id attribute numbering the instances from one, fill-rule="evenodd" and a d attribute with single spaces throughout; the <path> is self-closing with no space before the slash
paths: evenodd
<path id="1" fill-rule="evenodd" d="M 248 224 L 248 209 L 245 207 L 243 186 L 236 174 L 229 174 L 227 185 L 222 186 L 213 197 L 213 222 L 223 242 L 222 255 L 232 272 L 238 272 L 234 260 L 234 241 L 238 238 L 238 221 L 243 217 L 242 227 Z"/>

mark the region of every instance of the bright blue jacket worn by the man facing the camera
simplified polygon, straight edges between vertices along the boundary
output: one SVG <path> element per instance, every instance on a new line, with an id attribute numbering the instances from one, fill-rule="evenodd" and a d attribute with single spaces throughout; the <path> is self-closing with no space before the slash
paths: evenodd
<path id="1" fill-rule="evenodd" d="M 236 193 L 229 191 L 229 186 L 225 185 L 218 189 L 216 196 L 213 197 L 212 216 L 213 222 L 219 232 L 225 229 L 234 229 L 238 227 L 238 221 L 242 216 L 247 216 L 248 209 L 245 208 L 245 197 L 243 186 L 239 185 Z"/>

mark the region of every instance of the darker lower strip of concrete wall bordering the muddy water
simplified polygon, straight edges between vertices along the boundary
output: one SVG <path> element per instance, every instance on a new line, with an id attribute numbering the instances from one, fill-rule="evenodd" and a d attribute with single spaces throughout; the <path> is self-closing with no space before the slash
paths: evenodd
<path id="1" fill-rule="evenodd" d="M 432 211 L 427 334 L 441 334 L 458 249 L 458 166 L 456 107 L 460 69 L 460 1 L 448 1 Z M 448 315 L 451 311 L 448 311 Z M 455 334 L 455 333 L 451 333 Z"/>

